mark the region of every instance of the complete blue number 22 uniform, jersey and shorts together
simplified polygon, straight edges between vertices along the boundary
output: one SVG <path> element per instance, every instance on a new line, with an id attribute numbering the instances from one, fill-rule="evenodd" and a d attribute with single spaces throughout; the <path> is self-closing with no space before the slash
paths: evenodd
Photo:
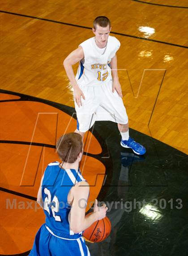
<path id="1" fill-rule="evenodd" d="M 61 169 L 59 162 L 50 163 L 42 184 L 46 223 L 38 230 L 29 256 L 90 256 L 84 238 L 70 230 L 67 197 L 70 189 L 83 181 L 80 171 Z"/>

